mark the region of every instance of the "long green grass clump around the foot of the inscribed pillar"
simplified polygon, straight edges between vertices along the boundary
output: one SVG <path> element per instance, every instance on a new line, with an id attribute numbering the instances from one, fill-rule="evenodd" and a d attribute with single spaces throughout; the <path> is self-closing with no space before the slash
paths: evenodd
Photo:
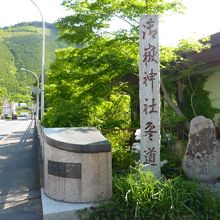
<path id="1" fill-rule="evenodd" d="M 131 169 L 115 176 L 112 201 L 93 209 L 90 219 L 219 219 L 220 198 L 195 181 L 157 180 Z"/>

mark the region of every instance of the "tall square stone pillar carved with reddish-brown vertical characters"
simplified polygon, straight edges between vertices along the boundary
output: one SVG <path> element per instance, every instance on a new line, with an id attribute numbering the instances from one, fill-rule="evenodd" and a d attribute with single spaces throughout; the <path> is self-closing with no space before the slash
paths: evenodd
<path id="1" fill-rule="evenodd" d="M 160 68 L 158 15 L 140 19 L 140 124 L 141 162 L 144 170 L 160 177 Z"/>

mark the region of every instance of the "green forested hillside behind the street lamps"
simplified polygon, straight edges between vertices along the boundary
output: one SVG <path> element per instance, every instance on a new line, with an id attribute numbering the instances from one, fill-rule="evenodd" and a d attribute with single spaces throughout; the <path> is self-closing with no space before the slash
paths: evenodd
<path id="1" fill-rule="evenodd" d="M 8 99 L 27 102 L 35 77 L 21 68 L 41 76 L 42 28 L 41 22 L 20 23 L 0 29 L 0 86 Z M 45 70 L 54 60 L 54 51 L 63 45 L 56 41 L 57 32 L 46 23 Z"/>

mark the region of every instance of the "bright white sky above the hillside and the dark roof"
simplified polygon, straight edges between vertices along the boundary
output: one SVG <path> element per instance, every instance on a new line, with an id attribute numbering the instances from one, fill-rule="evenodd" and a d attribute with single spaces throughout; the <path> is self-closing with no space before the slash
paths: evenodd
<path id="1" fill-rule="evenodd" d="M 41 9 L 44 20 L 54 22 L 69 14 L 62 0 L 34 0 Z M 200 38 L 220 32 L 220 0 L 183 0 L 187 7 L 184 15 L 160 18 L 160 42 L 175 45 L 182 38 Z M 0 27 L 22 21 L 40 20 L 40 15 L 30 0 L 0 0 Z"/>

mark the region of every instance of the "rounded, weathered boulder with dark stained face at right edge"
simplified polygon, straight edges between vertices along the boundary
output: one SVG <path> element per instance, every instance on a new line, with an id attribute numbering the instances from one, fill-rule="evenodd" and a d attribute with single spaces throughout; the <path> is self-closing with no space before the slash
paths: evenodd
<path id="1" fill-rule="evenodd" d="M 220 177 L 220 150 L 212 120 L 197 116 L 190 122 L 183 171 L 199 181 L 214 181 Z"/>

